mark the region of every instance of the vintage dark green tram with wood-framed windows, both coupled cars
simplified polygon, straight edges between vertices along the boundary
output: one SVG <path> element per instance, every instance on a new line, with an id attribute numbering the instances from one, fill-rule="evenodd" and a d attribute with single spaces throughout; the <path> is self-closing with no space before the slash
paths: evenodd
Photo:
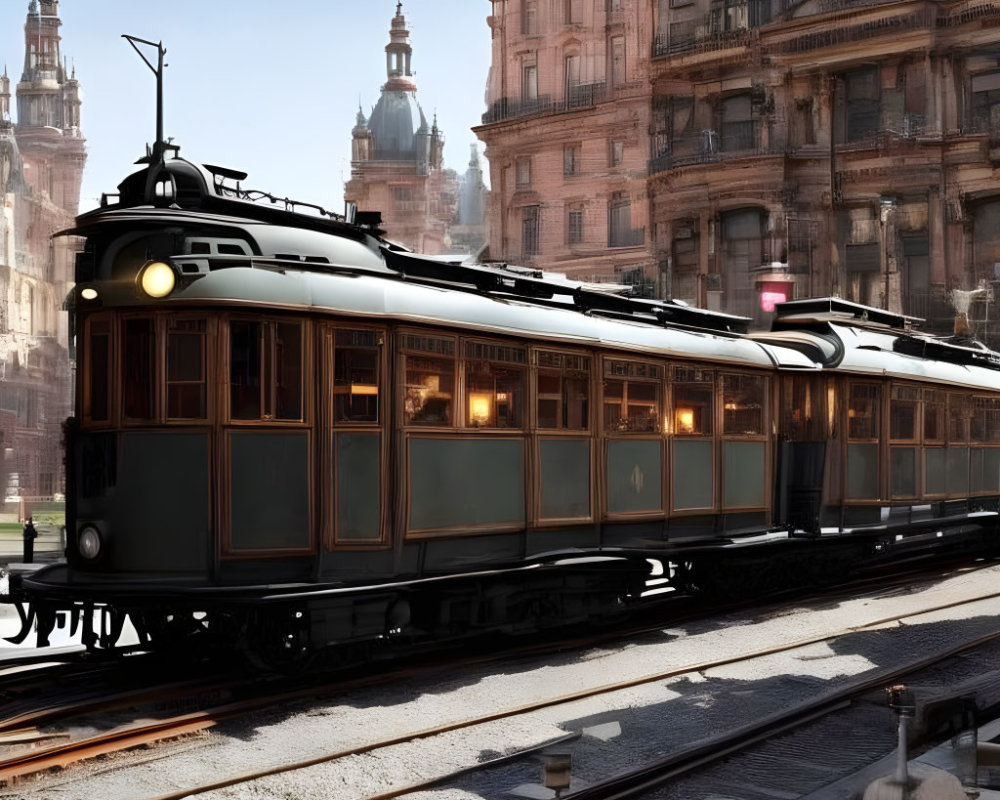
<path id="1" fill-rule="evenodd" d="M 39 644 L 538 630 L 992 547 L 1000 357 L 838 299 L 774 328 L 452 263 L 166 148 L 81 215 Z M 95 622 L 97 620 L 97 622 Z"/>

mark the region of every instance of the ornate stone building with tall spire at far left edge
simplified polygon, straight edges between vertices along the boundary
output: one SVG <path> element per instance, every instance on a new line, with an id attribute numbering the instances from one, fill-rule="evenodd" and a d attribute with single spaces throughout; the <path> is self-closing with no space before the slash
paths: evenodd
<path id="1" fill-rule="evenodd" d="M 0 437 L 4 496 L 63 490 L 61 425 L 71 412 L 68 320 L 73 224 L 86 150 L 80 85 L 60 56 L 58 0 L 32 0 L 11 120 L 0 78 Z"/>

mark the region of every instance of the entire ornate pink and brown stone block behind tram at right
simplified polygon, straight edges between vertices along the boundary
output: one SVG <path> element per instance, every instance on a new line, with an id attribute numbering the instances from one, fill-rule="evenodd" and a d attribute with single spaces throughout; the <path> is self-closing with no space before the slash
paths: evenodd
<path id="1" fill-rule="evenodd" d="M 633 257 L 762 326 L 833 294 L 950 332 L 969 302 L 1000 344 L 1000 5 L 491 2 L 495 257 Z"/>

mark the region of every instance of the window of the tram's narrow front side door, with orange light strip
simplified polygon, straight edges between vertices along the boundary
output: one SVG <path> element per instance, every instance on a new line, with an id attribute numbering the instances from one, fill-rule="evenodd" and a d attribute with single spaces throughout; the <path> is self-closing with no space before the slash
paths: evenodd
<path id="1" fill-rule="evenodd" d="M 336 333 L 333 413 L 337 422 L 378 422 L 378 335 L 369 330 Z"/>

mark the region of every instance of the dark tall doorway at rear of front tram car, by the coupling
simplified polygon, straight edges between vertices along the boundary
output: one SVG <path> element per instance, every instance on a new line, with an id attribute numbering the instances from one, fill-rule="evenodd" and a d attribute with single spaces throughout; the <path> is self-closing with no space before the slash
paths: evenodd
<path id="1" fill-rule="evenodd" d="M 782 375 L 775 508 L 776 522 L 819 533 L 833 397 L 816 375 Z"/>

